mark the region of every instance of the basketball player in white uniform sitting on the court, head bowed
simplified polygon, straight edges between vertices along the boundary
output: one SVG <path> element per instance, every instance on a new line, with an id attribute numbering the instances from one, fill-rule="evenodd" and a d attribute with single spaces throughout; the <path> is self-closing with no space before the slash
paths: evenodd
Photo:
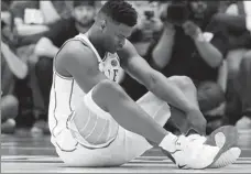
<path id="1" fill-rule="evenodd" d="M 171 117 L 167 104 L 184 111 L 185 124 L 198 132 L 205 132 L 206 122 L 194 86 L 186 86 L 190 80 L 165 78 L 127 40 L 135 24 L 130 3 L 108 1 L 89 31 L 68 40 L 55 56 L 48 122 L 59 157 L 69 166 L 118 166 L 159 145 L 182 168 L 234 162 L 240 149 L 231 148 L 231 127 L 208 139 L 163 129 Z M 116 83 L 120 66 L 150 90 L 138 102 Z M 188 89 L 193 93 L 186 95 Z"/>

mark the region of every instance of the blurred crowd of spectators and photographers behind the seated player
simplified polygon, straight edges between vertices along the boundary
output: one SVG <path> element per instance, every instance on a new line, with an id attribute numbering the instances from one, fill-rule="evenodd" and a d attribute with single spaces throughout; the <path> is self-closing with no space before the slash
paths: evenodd
<path id="1" fill-rule="evenodd" d="M 194 81 L 207 133 L 240 122 L 251 129 L 251 1 L 188 1 L 188 13 L 183 1 L 130 2 L 139 21 L 129 40 L 166 77 Z M 102 3 L 1 1 L 2 133 L 50 133 L 53 58 L 65 41 L 91 26 Z M 120 84 L 133 100 L 146 93 L 127 74 Z M 165 127 L 176 130 L 172 120 Z"/>

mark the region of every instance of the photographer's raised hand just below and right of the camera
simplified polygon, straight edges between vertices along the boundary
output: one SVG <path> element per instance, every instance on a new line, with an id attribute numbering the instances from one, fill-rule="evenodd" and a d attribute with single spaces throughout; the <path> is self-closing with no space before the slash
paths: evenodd
<path id="1" fill-rule="evenodd" d="M 192 21 L 186 21 L 183 24 L 183 30 L 184 32 L 189 35 L 192 39 L 196 39 L 198 37 L 199 34 L 201 34 L 201 30 L 198 25 L 196 25 L 194 22 Z"/>

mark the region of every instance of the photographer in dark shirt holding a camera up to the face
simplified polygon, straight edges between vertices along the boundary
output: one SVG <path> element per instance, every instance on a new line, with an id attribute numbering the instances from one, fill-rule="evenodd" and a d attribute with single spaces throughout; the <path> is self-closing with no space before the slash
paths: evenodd
<path id="1" fill-rule="evenodd" d="M 152 66 L 165 76 L 192 78 L 198 89 L 200 110 L 208 121 L 214 118 L 220 126 L 225 101 L 222 77 L 226 75 L 220 67 L 225 65 L 228 40 L 220 29 L 211 31 L 210 19 L 217 6 L 217 1 L 171 2 L 162 17 L 162 36 L 150 53 Z M 216 122 L 214 127 L 218 127 Z"/>

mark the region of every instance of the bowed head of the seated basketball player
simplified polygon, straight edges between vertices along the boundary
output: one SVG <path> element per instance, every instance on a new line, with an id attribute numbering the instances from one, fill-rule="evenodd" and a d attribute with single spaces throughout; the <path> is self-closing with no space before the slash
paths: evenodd
<path id="1" fill-rule="evenodd" d="M 98 12 L 96 26 L 100 31 L 102 46 L 110 53 L 121 48 L 137 24 L 138 13 L 124 0 L 110 0 Z"/>

